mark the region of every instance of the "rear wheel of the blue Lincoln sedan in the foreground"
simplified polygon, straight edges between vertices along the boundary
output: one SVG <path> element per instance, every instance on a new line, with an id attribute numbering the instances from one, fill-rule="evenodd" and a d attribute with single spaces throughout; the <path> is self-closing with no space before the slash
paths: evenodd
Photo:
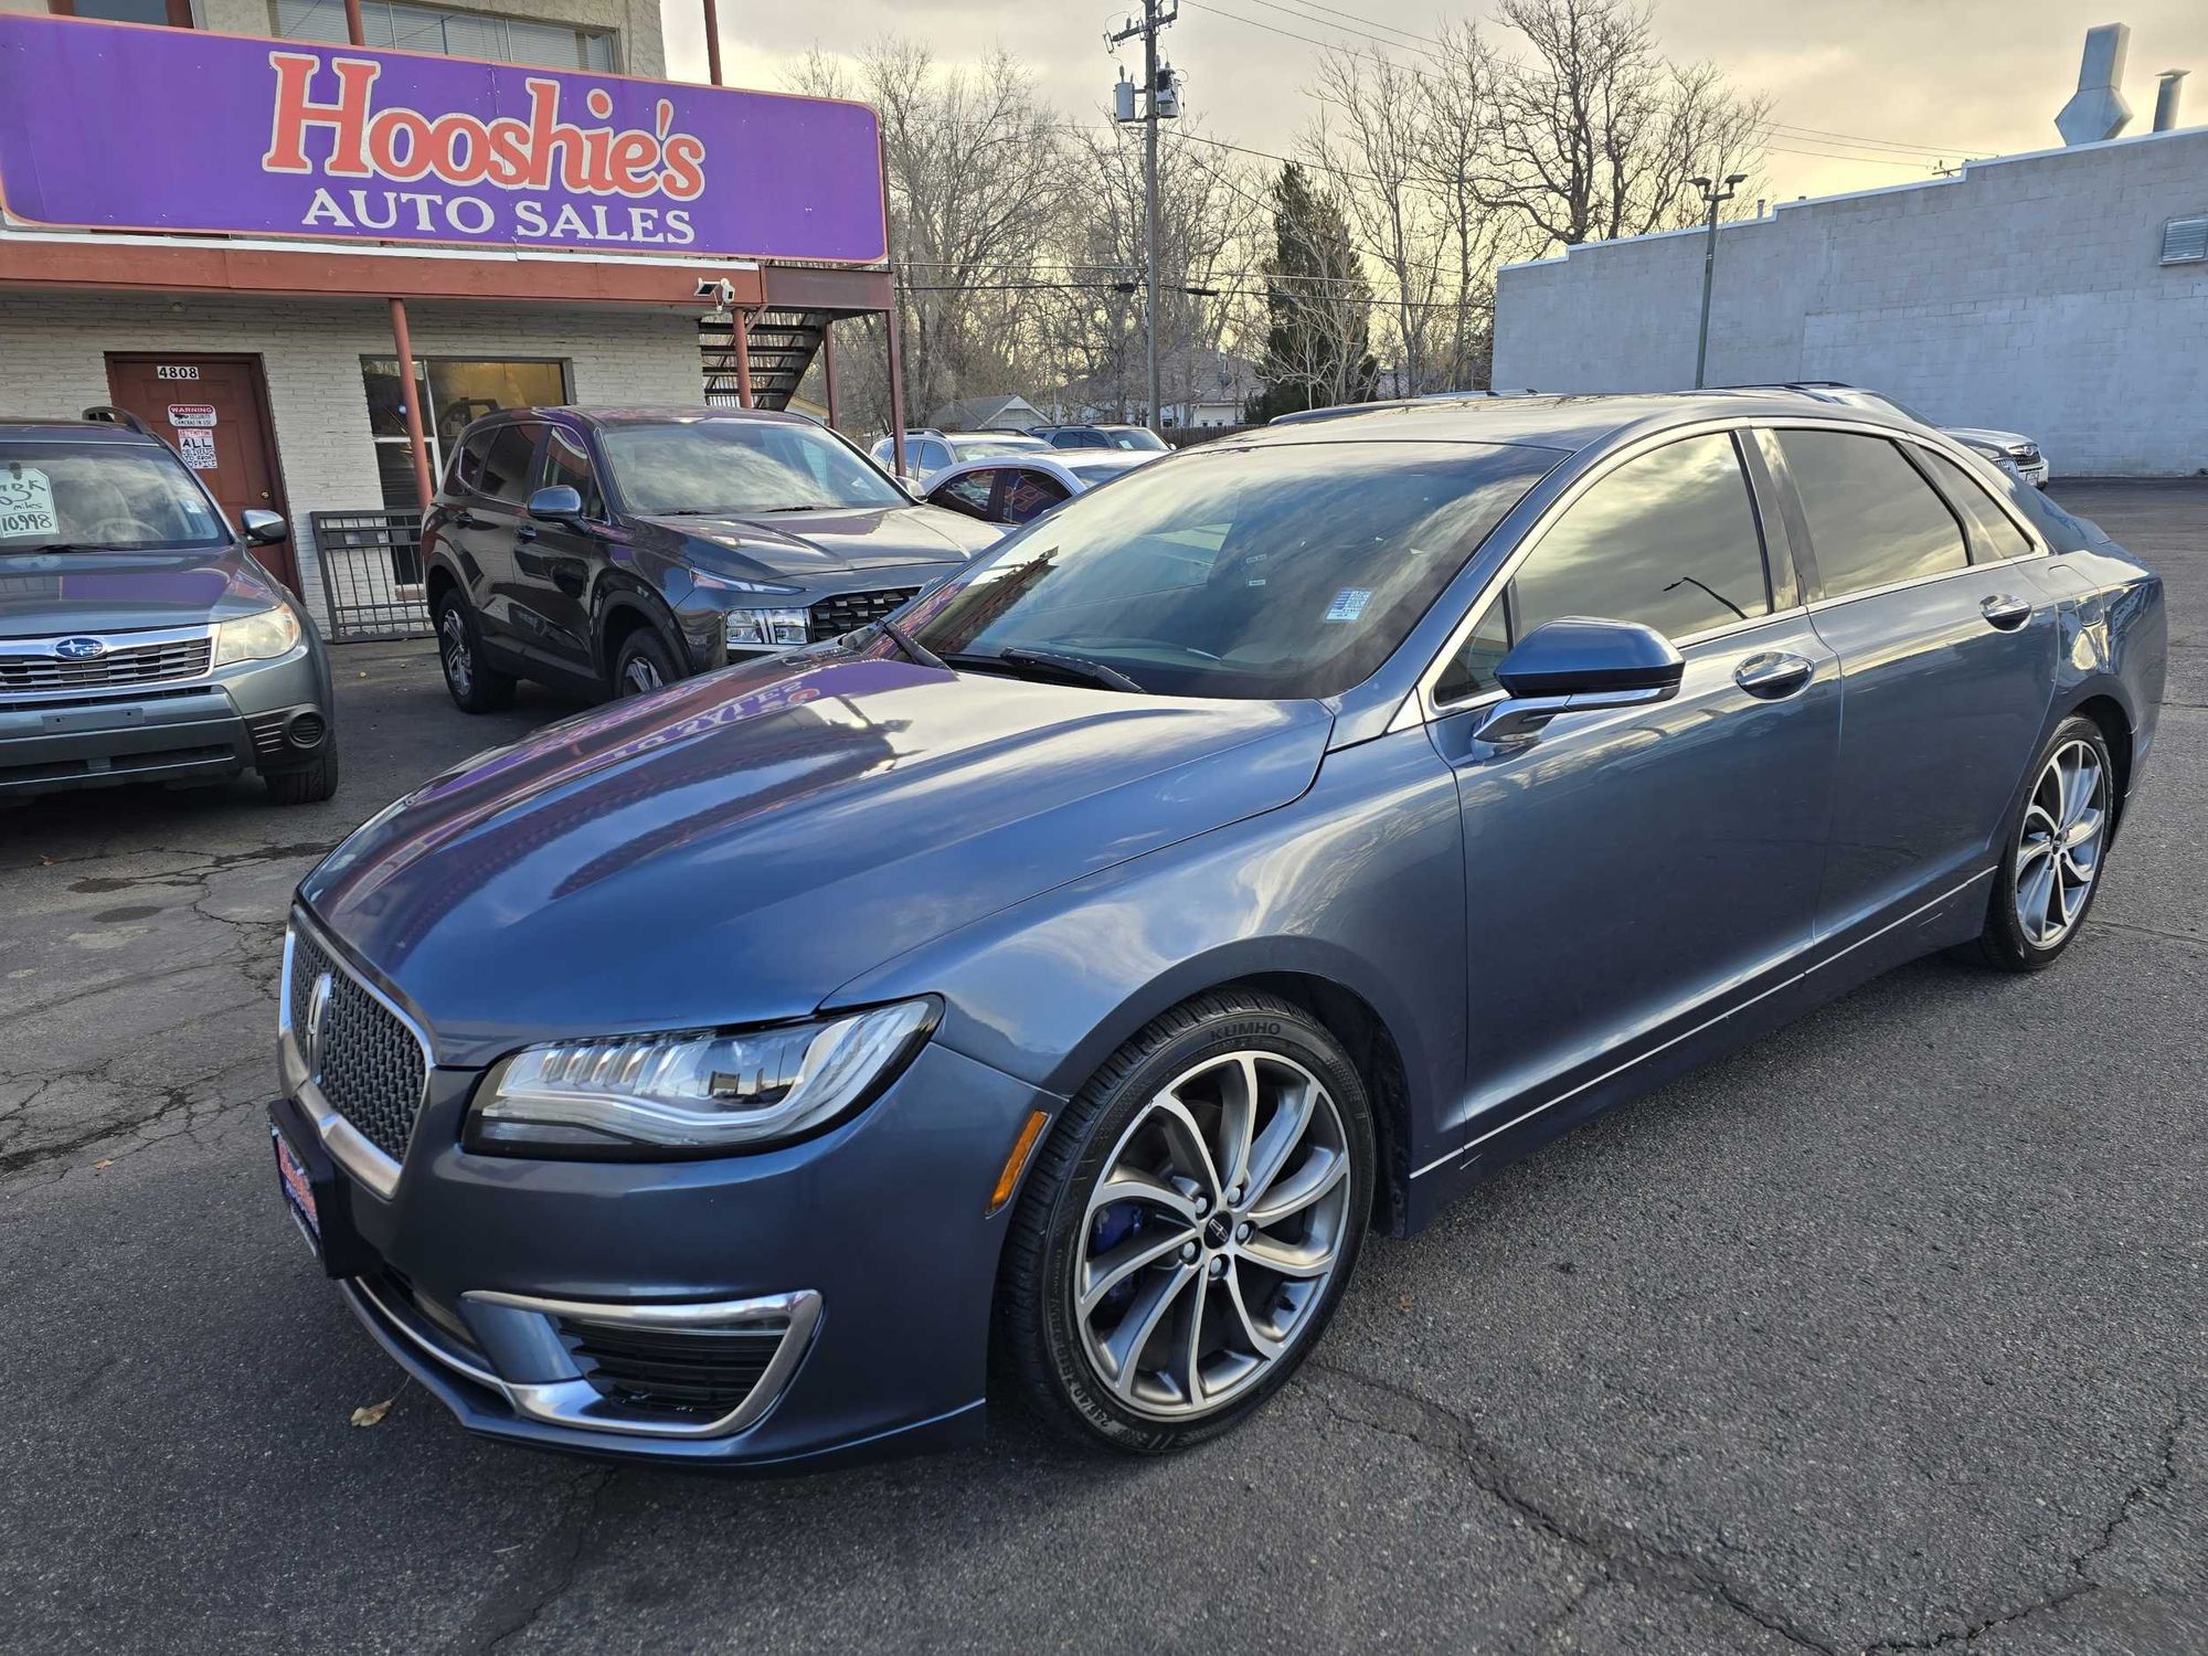
<path id="1" fill-rule="evenodd" d="M 1985 930 L 1967 954 L 2003 972 L 2040 972 L 2076 938 L 2100 890 L 2115 826 L 2115 764 L 2089 718 L 2067 718 L 2031 764 L 2009 824 Z"/>

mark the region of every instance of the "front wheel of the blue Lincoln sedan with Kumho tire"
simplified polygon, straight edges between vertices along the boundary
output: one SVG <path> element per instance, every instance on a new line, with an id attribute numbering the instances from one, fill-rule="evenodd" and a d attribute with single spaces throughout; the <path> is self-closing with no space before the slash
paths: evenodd
<path id="1" fill-rule="evenodd" d="M 1199 996 L 1066 1106 L 1007 1239 L 998 1338 L 1089 1442 L 1168 1453 L 1254 1413 L 1340 1303 L 1373 1195 L 1371 1106 L 1309 1013 Z"/>

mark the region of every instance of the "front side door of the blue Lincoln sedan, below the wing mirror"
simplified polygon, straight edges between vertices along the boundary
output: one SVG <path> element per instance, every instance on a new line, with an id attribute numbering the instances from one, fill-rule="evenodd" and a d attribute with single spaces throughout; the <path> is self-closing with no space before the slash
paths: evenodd
<path id="1" fill-rule="evenodd" d="M 1429 731 L 1464 808 L 1466 1124 L 1499 1133 L 1561 1104 L 1811 941 L 1839 665 L 1751 468 L 1713 431 L 1594 473 L 1530 532 L 1435 684 Z M 1495 665 L 1561 616 L 1665 634 L 1687 662 L 1678 696 L 1482 740 L 1508 700 Z"/>

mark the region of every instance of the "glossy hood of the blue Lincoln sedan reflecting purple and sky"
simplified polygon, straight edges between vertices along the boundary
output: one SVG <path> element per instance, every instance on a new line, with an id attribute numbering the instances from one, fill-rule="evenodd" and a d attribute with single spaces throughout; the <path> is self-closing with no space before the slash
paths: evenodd
<path id="1" fill-rule="evenodd" d="M 439 1062 L 797 1018 L 943 932 L 1292 802 L 1331 724 L 1318 702 L 808 651 L 481 755 L 364 824 L 300 896 L 415 1005 Z"/>

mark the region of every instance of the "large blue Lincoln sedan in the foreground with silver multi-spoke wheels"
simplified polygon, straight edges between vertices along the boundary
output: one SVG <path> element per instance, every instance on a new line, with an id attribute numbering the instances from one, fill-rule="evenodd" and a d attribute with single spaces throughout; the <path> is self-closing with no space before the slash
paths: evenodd
<path id="1" fill-rule="evenodd" d="M 371 819 L 291 914 L 283 1188 L 488 1437 L 1186 1448 L 1367 1228 L 1901 960 L 2060 960 L 2164 658 L 2155 574 L 1883 415 L 1228 437 Z"/>

